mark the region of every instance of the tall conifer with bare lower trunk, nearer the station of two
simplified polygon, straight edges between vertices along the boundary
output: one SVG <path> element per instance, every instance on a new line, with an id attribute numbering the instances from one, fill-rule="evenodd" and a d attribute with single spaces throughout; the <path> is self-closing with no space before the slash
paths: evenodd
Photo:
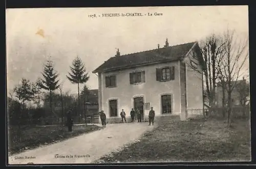
<path id="1" fill-rule="evenodd" d="M 77 84 L 78 88 L 78 114 L 80 115 L 80 95 L 79 95 L 79 83 L 86 83 L 90 76 L 86 72 L 86 67 L 82 63 L 82 60 L 77 56 L 70 66 L 71 72 L 68 72 L 67 78 L 73 83 Z"/>

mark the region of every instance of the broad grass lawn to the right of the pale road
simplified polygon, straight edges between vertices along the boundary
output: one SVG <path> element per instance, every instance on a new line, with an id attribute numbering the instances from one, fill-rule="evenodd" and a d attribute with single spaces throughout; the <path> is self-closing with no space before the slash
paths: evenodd
<path id="1" fill-rule="evenodd" d="M 96 163 L 250 161 L 249 120 L 234 120 L 230 128 L 219 120 L 174 121 L 161 119 L 138 142 Z"/>

